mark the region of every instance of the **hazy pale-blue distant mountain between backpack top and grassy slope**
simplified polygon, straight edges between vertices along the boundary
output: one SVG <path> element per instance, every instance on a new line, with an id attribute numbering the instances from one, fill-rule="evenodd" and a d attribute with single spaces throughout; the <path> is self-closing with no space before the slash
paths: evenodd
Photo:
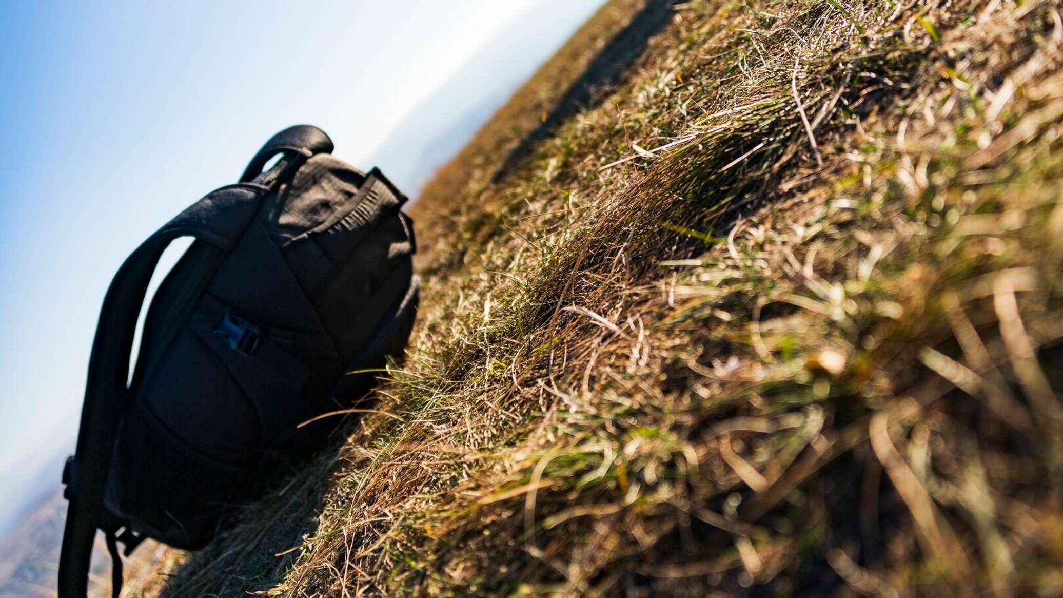
<path id="1" fill-rule="evenodd" d="M 395 127 L 373 152 L 373 162 L 416 197 L 436 169 L 457 153 L 601 4 L 602 0 L 536 3 Z"/>

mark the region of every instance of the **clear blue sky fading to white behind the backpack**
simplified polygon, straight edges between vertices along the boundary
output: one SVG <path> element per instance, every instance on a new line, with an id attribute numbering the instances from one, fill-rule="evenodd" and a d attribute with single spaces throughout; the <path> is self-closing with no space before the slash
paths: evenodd
<path id="1" fill-rule="evenodd" d="M 73 445 L 100 301 L 140 240 L 294 122 L 368 168 L 500 32 L 545 17 L 538 45 L 491 50 L 512 86 L 600 4 L 0 0 L 0 529 Z"/>

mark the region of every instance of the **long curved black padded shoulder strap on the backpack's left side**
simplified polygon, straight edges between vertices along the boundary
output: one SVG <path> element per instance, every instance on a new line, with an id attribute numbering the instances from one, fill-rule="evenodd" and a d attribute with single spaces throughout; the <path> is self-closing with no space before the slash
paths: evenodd
<path id="1" fill-rule="evenodd" d="M 103 504 L 115 438 L 130 391 L 130 351 L 137 316 L 155 265 L 170 242 L 193 236 L 219 255 L 230 252 L 261 205 L 265 189 L 246 185 L 222 187 L 193 203 L 148 237 L 118 269 L 100 310 L 100 322 L 88 362 L 81 430 L 67 478 L 66 529 L 60 557 L 60 598 L 84 598 L 92 543 L 98 529 L 108 533 L 113 548 L 113 517 Z M 66 475 L 65 475 L 66 477 Z M 121 588 L 120 560 L 116 563 L 113 594 Z"/>

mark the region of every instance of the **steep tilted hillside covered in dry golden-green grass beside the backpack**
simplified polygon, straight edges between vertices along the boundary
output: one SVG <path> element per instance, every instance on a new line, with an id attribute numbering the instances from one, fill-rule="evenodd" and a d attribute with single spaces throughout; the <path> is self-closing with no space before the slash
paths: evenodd
<path id="1" fill-rule="evenodd" d="M 693 0 L 571 94 L 651 13 L 426 187 L 337 448 L 131 595 L 1063 593 L 1060 3 Z"/>

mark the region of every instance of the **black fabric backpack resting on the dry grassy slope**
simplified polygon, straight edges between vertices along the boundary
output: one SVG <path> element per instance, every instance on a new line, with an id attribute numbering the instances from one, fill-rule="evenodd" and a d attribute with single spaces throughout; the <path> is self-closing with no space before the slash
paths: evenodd
<path id="1" fill-rule="evenodd" d="M 315 127 L 277 133 L 239 183 L 170 220 L 115 275 L 63 472 L 61 598 L 85 596 L 97 530 L 115 596 L 117 542 L 126 555 L 145 537 L 202 547 L 340 418 L 301 423 L 349 408 L 402 355 L 418 300 L 406 198 L 332 150 Z M 146 289 L 181 236 L 195 240 L 155 293 L 126 384 Z"/>

